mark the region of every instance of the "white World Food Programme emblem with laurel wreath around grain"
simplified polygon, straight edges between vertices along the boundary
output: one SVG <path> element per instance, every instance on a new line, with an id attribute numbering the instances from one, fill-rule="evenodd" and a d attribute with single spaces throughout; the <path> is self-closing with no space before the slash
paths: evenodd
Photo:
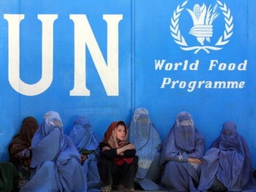
<path id="1" fill-rule="evenodd" d="M 178 5 L 171 18 L 171 35 L 174 38 L 174 41 L 180 45 L 181 49 L 185 51 L 195 50 L 194 54 L 197 54 L 200 50 L 210 53 L 210 50 L 218 51 L 222 49 L 222 46 L 229 43 L 229 38 L 233 34 L 233 16 L 230 14 L 230 9 L 227 8 L 225 3 L 216 1 L 217 4 L 214 6 L 209 5 L 207 7 L 205 4 L 202 4 L 201 6 L 195 4 L 193 10 L 187 9 L 194 24 L 193 27 L 191 27 L 189 34 L 194 35 L 198 43 L 201 44 L 201 46 L 189 46 L 179 29 L 179 16 L 187 2 L 188 1 L 183 2 L 181 6 Z M 219 16 L 217 11 L 218 8 L 225 18 L 225 30 L 214 46 L 207 46 L 205 44 L 210 44 L 211 37 L 213 37 L 213 23 Z"/>

